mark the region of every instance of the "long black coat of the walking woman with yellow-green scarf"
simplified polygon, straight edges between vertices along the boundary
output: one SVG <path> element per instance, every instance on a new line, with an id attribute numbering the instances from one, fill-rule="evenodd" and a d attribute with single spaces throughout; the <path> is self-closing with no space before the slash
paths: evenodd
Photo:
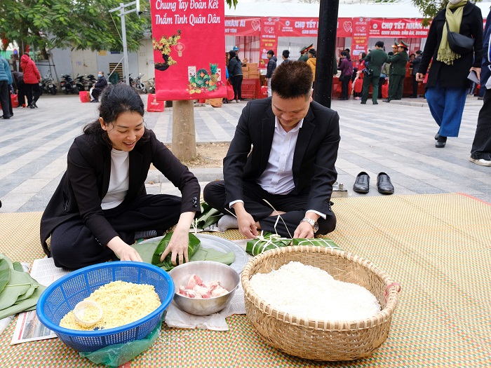
<path id="1" fill-rule="evenodd" d="M 445 8 L 439 11 L 431 22 L 418 73 L 426 74 L 431 62 L 426 87 L 435 87 L 439 76 L 441 88 L 466 88 L 469 86 L 469 79 L 467 79 L 469 69 L 480 68 L 480 62 L 483 60 L 483 15 L 478 6 L 469 2 L 464 5 L 459 33 L 475 39 L 474 49 L 473 52 L 454 60 L 453 65 L 436 60 L 443 27 L 446 27 Z"/>

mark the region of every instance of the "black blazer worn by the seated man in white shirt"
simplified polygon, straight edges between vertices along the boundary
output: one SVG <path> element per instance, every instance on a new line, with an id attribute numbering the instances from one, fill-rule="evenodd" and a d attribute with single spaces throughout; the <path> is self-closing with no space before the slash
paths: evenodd
<path id="1" fill-rule="evenodd" d="M 256 181 L 264 172 L 273 142 L 274 122 L 271 97 L 248 102 L 243 109 L 223 160 L 225 205 L 243 200 L 243 181 Z M 337 178 L 335 162 L 339 140 L 337 112 L 311 102 L 295 146 L 292 165 L 295 189 L 291 192 L 292 195 L 309 193 L 309 210 L 332 213 L 329 200 Z"/>

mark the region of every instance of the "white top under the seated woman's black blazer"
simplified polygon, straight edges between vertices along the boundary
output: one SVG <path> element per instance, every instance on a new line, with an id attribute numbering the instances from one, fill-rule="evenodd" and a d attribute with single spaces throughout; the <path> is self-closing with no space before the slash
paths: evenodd
<path id="1" fill-rule="evenodd" d="M 107 194 L 102 198 L 100 207 L 102 210 L 109 210 L 120 205 L 130 184 L 130 153 L 111 150 L 111 176 L 109 177 L 109 189 Z"/>

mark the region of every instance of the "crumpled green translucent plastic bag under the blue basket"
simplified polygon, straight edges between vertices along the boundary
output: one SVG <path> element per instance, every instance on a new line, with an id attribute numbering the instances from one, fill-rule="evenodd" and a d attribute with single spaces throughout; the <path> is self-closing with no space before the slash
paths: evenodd
<path id="1" fill-rule="evenodd" d="M 130 341 L 128 343 L 116 343 L 92 352 L 81 351 L 79 352 L 79 355 L 81 357 L 86 357 L 90 362 L 94 362 L 95 364 L 119 367 L 121 364 L 129 362 L 134 357 L 150 348 L 160 336 L 161 325 L 162 321 L 157 323 L 154 330 L 142 340 Z"/>

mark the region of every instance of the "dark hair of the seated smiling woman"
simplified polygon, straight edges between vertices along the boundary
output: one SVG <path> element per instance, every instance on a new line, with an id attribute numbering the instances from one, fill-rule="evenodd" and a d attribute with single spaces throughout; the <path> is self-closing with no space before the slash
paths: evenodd
<path id="1" fill-rule="evenodd" d="M 144 105 L 142 99 L 133 87 L 123 83 L 110 84 L 102 91 L 99 116 L 104 119 L 105 125 L 109 125 L 114 123 L 123 112 L 137 112 L 143 116 Z M 99 119 L 84 126 L 83 132 L 92 135 L 97 141 L 112 148 L 111 139 L 109 139 L 107 131 L 100 126 Z M 145 130 L 140 141 L 146 142 L 148 139 L 149 133 Z"/>

